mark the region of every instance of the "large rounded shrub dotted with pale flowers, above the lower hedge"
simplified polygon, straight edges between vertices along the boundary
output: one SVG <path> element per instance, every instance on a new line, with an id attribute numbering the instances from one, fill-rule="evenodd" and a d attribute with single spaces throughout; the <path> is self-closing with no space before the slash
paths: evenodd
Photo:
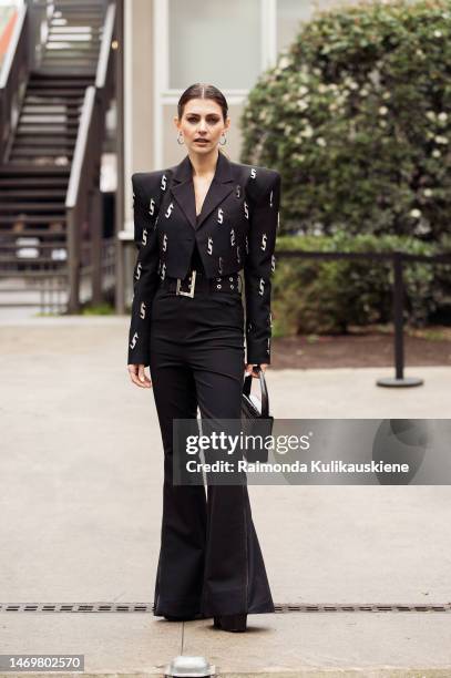
<path id="1" fill-rule="evenodd" d="M 450 232 L 450 19 L 451 0 L 321 13 L 263 73 L 242 162 L 281 173 L 280 232 Z"/>

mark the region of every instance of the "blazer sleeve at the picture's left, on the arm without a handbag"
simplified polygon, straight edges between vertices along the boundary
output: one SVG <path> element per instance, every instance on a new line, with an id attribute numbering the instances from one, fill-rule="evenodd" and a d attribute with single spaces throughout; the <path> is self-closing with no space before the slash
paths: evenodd
<path id="1" fill-rule="evenodd" d="M 141 174 L 141 176 L 140 176 Z M 127 364 L 150 363 L 151 305 L 158 285 L 157 209 L 145 201 L 142 173 L 132 175 L 134 243 L 137 257 L 133 271 L 133 302 L 129 330 Z M 154 214 L 151 214 L 151 212 Z"/>

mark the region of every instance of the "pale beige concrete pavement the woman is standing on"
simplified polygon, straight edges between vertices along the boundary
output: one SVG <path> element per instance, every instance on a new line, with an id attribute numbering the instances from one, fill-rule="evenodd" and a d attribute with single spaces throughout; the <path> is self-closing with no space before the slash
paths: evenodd
<path id="1" fill-rule="evenodd" d="M 0 602 L 152 602 L 162 444 L 126 373 L 127 318 L 0 321 Z M 451 368 L 271 370 L 279 418 L 450 418 Z M 287 399 L 289 394 L 289 399 Z M 350 414 L 351 413 L 351 414 Z M 276 604 L 451 600 L 448 486 L 249 486 Z M 451 614 L 249 615 L 247 634 L 150 614 L 0 613 L 0 654 L 83 653 L 85 672 L 451 677 Z M 7 675 L 7 674 L 6 674 Z M 8 674 L 10 676 L 10 674 Z"/>

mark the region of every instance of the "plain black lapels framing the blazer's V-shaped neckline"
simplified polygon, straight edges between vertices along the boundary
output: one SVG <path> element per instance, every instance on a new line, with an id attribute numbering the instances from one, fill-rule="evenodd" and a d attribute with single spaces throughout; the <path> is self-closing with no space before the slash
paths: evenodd
<path id="1" fill-rule="evenodd" d="M 232 193 L 233 187 L 234 179 L 232 176 L 230 163 L 227 157 L 219 152 L 215 175 L 205 196 L 204 204 L 202 205 L 198 223 L 196 220 L 193 167 L 188 155 L 176 165 L 171 191 L 193 228 L 199 228 L 214 208 Z"/>

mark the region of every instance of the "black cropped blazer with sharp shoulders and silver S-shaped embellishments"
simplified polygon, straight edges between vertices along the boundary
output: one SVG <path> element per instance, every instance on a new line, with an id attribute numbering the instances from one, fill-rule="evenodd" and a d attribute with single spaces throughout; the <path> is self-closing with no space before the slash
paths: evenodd
<path id="1" fill-rule="evenodd" d="M 158 279 L 184 278 L 195 243 L 208 278 L 244 270 L 246 362 L 270 363 L 270 277 L 279 226 L 280 174 L 219 152 L 196 224 L 189 156 L 167 170 L 132 175 L 134 242 L 129 364 L 150 363 L 150 318 Z"/>

